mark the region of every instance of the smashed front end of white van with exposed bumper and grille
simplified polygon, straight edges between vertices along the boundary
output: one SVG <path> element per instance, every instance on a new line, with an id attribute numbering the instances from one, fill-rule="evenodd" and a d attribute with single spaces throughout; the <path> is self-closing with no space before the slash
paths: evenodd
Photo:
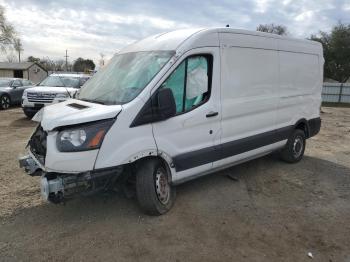
<path id="1" fill-rule="evenodd" d="M 120 177 L 123 167 L 104 168 L 69 174 L 45 169 L 47 132 L 39 125 L 27 148 L 29 155 L 19 158 L 19 165 L 30 176 L 41 176 L 41 195 L 52 203 L 76 196 L 86 196 L 110 189 Z"/>

